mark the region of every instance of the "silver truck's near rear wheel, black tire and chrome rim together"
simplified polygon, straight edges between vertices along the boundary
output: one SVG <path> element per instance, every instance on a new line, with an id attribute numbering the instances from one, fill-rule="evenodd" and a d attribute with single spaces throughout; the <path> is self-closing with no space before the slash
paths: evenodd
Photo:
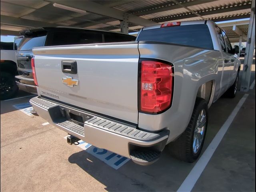
<path id="1" fill-rule="evenodd" d="M 194 162 L 202 150 L 208 124 L 208 104 L 197 98 L 190 122 L 182 135 L 168 146 L 175 158 L 185 162 Z"/>

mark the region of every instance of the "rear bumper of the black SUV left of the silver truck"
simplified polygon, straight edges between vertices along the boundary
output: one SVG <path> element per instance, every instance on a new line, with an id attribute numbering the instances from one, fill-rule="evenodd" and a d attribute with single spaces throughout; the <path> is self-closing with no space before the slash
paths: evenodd
<path id="1" fill-rule="evenodd" d="M 34 84 L 34 79 L 17 75 L 15 76 L 15 81 L 20 90 L 37 94 L 36 85 Z"/>

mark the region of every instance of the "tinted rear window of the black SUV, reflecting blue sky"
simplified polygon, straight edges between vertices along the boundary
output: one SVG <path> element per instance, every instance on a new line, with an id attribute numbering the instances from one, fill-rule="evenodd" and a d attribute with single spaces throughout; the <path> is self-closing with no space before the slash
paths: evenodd
<path id="1" fill-rule="evenodd" d="M 34 47 L 44 46 L 46 36 L 23 38 L 18 47 L 19 51 L 32 50 Z"/>

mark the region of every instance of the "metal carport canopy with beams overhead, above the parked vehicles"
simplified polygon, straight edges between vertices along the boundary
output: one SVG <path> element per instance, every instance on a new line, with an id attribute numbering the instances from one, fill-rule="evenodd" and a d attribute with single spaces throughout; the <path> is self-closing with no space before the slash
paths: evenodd
<path id="1" fill-rule="evenodd" d="M 0 0 L 0 3 L 1 35 L 19 35 L 22 29 L 42 26 L 128 33 L 158 23 L 189 20 L 220 22 L 251 17 L 250 26 L 248 22 L 220 26 L 226 30 L 231 42 L 247 40 L 248 45 L 253 44 L 250 47 L 255 46 L 255 20 L 254 24 L 251 22 L 255 18 L 255 0 Z M 246 49 L 248 54 L 245 58 L 245 66 L 249 69 L 250 64 L 246 63 L 251 60 L 247 59 L 248 55 L 252 57 L 251 49 Z M 247 76 L 243 76 L 243 81 L 248 80 L 249 71 Z M 243 90 L 248 90 L 248 86 L 243 85 Z"/>

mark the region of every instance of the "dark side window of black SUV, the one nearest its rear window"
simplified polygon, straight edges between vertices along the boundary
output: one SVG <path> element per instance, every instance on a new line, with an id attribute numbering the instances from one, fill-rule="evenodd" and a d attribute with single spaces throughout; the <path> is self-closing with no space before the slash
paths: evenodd
<path id="1" fill-rule="evenodd" d="M 96 32 L 57 31 L 47 37 L 47 46 L 102 43 L 102 34 Z"/>

